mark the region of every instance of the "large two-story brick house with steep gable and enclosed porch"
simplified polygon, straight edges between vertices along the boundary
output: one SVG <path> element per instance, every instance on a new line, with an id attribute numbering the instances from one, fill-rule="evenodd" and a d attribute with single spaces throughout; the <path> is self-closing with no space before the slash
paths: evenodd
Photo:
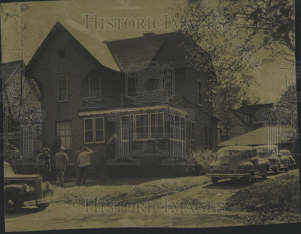
<path id="1" fill-rule="evenodd" d="M 135 88 L 137 79 L 126 78 L 126 69 L 131 64 L 140 68 L 145 61 L 175 69 L 174 84 L 166 79 L 170 74 L 164 68 L 163 87 L 158 88 L 156 77 L 145 84 L 143 92 L 159 90 L 164 101 L 158 95 L 158 100 L 146 97 L 140 98 L 138 104 L 133 103 L 141 90 Z M 149 68 L 151 65 L 147 64 Z M 154 157 L 158 150 L 159 154 L 160 150 L 169 150 L 169 155 L 160 160 L 172 157 L 173 142 L 186 139 L 192 141 L 193 147 L 217 149 L 217 118 L 212 114 L 212 103 L 202 92 L 210 87 L 208 75 L 188 68 L 185 53 L 177 47 L 172 33 L 147 33 L 143 37 L 103 43 L 57 22 L 26 66 L 26 76 L 37 82 L 42 93 L 45 146 L 51 146 L 59 136 L 68 158 L 74 157 L 80 145 L 87 146 L 94 151 L 90 172 L 101 172 L 99 168 L 105 163 L 101 159 L 106 158 L 107 141 L 116 132 L 116 121 L 123 126 L 126 115 L 133 109 L 138 110 L 138 116 L 129 127 L 130 157 L 140 160 L 141 165 L 158 160 Z M 173 121 L 183 123 L 181 115 L 185 109 L 194 111 L 194 119 L 186 120 L 184 131 L 177 132 L 175 123 L 162 119 L 161 111 L 166 109 L 173 113 Z M 120 118 L 108 119 L 110 110 L 116 111 Z M 164 138 L 171 132 L 184 138 L 177 134 Z M 144 141 L 138 139 L 140 133 L 145 134 Z M 133 155 L 133 151 L 140 153 Z"/>

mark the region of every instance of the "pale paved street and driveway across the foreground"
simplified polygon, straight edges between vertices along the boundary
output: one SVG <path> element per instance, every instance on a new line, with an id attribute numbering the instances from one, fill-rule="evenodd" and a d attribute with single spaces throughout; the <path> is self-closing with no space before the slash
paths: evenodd
<path id="1" fill-rule="evenodd" d="M 294 170 L 299 174 L 299 170 Z M 283 173 L 280 173 L 281 175 Z M 278 175 L 269 173 L 268 178 Z M 253 178 L 253 183 L 261 181 L 260 177 Z M 5 217 L 6 231 L 36 231 L 49 229 L 75 229 L 75 228 L 101 228 L 101 227 L 215 227 L 215 226 L 239 226 L 244 225 L 223 214 L 237 214 L 238 212 L 220 211 L 221 205 L 204 206 L 202 201 L 225 201 L 236 191 L 246 187 L 234 180 L 223 180 L 218 184 L 204 184 L 189 190 L 174 193 L 153 201 L 144 203 L 141 208 L 127 206 L 114 207 L 100 213 L 93 213 L 94 207 L 88 207 L 90 213 L 84 213 L 85 207 L 79 205 L 51 204 L 45 210 L 39 210 L 35 206 L 21 208 L 18 214 L 7 214 Z M 167 201 L 167 203 L 166 203 Z M 175 208 L 172 211 L 172 203 Z M 183 201 L 183 209 L 176 212 L 176 208 Z M 191 205 L 189 204 L 191 202 Z M 197 203 L 199 202 L 199 203 Z M 199 204 L 196 206 L 195 204 Z M 210 204 L 210 203 L 207 203 Z M 203 210 L 202 210 L 203 207 Z M 150 211 L 149 213 L 137 213 Z M 111 212 L 112 211 L 112 212 Z M 128 211 L 128 212 L 125 212 Z M 129 213 L 133 211 L 132 213 Z M 161 211 L 161 212 L 160 212 Z M 185 213 L 187 211 L 187 213 Z M 167 213 L 169 212 L 169 213 Z"/>

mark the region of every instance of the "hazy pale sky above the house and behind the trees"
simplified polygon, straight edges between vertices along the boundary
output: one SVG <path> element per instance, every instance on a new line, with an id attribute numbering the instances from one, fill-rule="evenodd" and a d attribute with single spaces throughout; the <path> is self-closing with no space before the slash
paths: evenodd
<path id="1" fill-rule="evenodd" d="M 63 25 L 67 23 L 76 27 L 87 36 L 106 41 L 139 37 L 147 32 L 154 32 L 155 34 L 172 32 L 172 30 L 162 29 L 118 30 L 116 27 L 112 30 L 83 30 L 85 27 L 84 15 L 98 14 L 99 17 L 103 18 L 132 17 L 144 18 L 145 20 L 146 18 L 163 18 L 164 14 L 174 17 L 180 11 L 176 8 L 179 4 L 187 6 L 187 1 L 70 0 L 3 4 L 1 14 L 2 60 L 10 62 L 19 60 L 22 57 L 25 64 L 27 64 L 57 21 Z M 22 9 L 21 5 L 23 5 Z M 23 31 L 23 38 L 25 38 L 23 45 L 20 40 L 21 19 L 26 24 L 26 29 Z M 275 71 L 279 64 L 287 63 L 285 60 L 278 60 L 272 64 L 262 65 L 252 70 L 259 85 L 252 86 L 250 92 L 260 97 L 259 103 L 277 101 L 275 89 L 277 93 L 281 93 L 281 90 L 285 88 L 285 81 L 283 78 L 281 80 L 278 79 L 275 88 Z"/>

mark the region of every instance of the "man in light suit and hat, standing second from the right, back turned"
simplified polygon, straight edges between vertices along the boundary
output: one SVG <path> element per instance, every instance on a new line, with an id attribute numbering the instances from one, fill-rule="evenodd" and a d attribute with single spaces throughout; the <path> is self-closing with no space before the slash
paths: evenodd
<path id="1" fill-rule="evenodd" d="M 60 152 L 55 154 L 54 157 L 54 164 L 55 164 L 55 170 L 57 172 L 57 187 L 60 185 L 60 187 L 64 187 L 64 172 L 66 170 L 66 165 L 68 164 L 68 157 L 67 154 L 64 152 L 65 147 L 61 146 Z"/>

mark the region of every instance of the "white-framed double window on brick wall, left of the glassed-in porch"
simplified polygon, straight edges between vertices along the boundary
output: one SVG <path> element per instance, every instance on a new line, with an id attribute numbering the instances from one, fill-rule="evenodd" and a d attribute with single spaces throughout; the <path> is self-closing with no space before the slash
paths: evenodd
<path id="1" fill-rule="evenodd" d="M 104 117 L 84 119 L 84 143 L 104 143 Z"/>

